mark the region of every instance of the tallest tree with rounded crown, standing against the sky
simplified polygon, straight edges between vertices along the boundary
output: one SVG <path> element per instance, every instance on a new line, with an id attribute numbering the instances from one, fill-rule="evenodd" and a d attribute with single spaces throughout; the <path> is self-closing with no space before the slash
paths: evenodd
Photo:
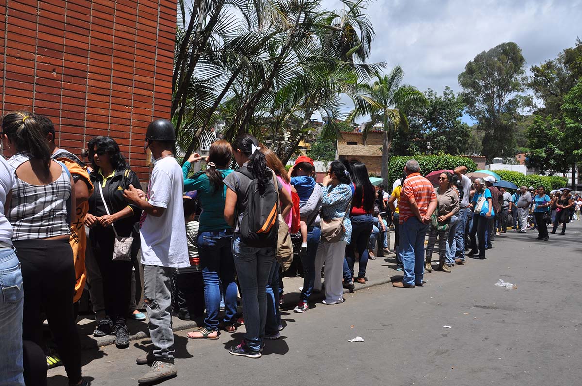
<path id="1" fill-rule="evenodd" d="M 467 112 L 485 132 L 482 152 L 489 162 L 514 155 L 517 111 L 528 102 L 519 95 L 526 83 L 524 63 L 519 46 L 505 42 L 475 56 L 459 74 Z"/>

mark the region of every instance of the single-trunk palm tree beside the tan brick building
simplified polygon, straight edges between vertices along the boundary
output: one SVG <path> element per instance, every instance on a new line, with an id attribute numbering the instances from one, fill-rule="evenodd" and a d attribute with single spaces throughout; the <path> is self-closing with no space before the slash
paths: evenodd
<path id="1" fill-rule="evenodd" d="M 392 148 L 392 139 L 396 130 L 408 130 L 409 124 L 404 110 L 409 103 L 427 103 L 424 94 L 407 84 L 401 84 L 404 71 L 396 66 L 389 74 L 376 74 L 377 80 L 372 84 L 361 85 L 361 96 L 354 101 L 355 108 L 350 112 L 349 121 L 357 117 L 370 116 L 364 123 L 363 138 L 375 124 L 381 123 L 384 131 L 382 143 L 381 177 L 388 184 L 388 155 Z"/>

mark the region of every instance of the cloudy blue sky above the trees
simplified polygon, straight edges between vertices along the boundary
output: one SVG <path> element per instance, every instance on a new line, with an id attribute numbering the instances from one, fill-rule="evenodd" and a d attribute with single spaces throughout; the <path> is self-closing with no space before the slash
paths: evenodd
<path id="1" fill-rule="evenodd" d="M 342 7 L 336 0 L 321 6 Z M 401 66 L 404 83 L 421 91 L 460 91 L 467 62 L 502 42 L 516 42 L 529 68 L 582 38 L 582 0 L 378 0 L 367 13 L 376 32 L 370 62 L 386 62 L 386 72 Z"/>

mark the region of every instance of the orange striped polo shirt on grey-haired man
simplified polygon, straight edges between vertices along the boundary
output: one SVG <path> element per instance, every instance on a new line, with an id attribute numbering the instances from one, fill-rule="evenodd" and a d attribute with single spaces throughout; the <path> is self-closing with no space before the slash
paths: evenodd
<path id="1" fill-rule="evenodd" d="M 412 209 L 410 208 L 410 198 L 414 198 L 418 210 L 422 216 L 427 214 L 428 205 L 433 199 L 437 199 L 437 195 L 432 188 L 432 184 L 419 173 L 412 173 L 402 184 L 400 191 L 400 199 L 398 200 L 398 212 L 400 214 L 400 224 L 404 221 L 414 217 Z"/>

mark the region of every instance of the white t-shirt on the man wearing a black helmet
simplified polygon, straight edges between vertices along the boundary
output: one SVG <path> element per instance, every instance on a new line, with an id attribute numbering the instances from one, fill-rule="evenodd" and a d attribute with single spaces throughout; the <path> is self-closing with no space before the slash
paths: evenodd
<path id="1" fill-rule="evenodd" d="M 141 224 L 141 263 L 184 268 L 190 266 L 184 205 L 182 168 L 173 157 L 157 160 L 148 185 L 148 201 L 166 208 L 160 217 L 146 215 Z M 144 212 L 145 213 L 145 212 Z"/>

